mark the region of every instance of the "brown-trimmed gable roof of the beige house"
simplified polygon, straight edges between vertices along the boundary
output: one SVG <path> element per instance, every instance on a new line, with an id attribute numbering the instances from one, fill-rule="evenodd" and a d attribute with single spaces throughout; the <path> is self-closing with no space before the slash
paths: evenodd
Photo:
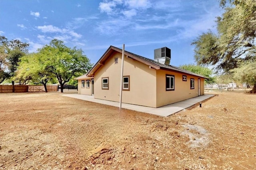
<path id="1" fill-rule="evenodd" d="M 99 59 L 99 61 L 86 74 L 86 76 L 92 77 L 94 75 L 94 73 L 98 70 L 98 68 L 100 68 L 100 66 L 104 65 L 104 62 L 106 61 L 106 59 L 108 59 L 108 57 L 110 57 L 114 51 L 122 53 L 122 49 L 114 47 L 114 46 L 111 45 L 108 48 L 108 50 L 104 53 L 104 55 L 102 55 L 102 57 Z M 196 74 L 194 72 L 183 70 L 183 69 L 181 69 L 179 67 L 172 66 L 172 65 L 161 64 L 161 63 L 158 63 L 157 61 L 154 61 L 152 59 L 148 59 L 146 57 L 142 57 L 140 55 L 136 55 L 136 54 L 131 53 L 129 51 L 124 51 L 124 55 L 126 55 L 129 58 L 132 58 L 132 59 L 135 59 L 137 61 L 140 61 L 141 63 L 144 63 L 144 64 L 146 64 L 148 66 L 151 66 L 151 68 L 155 68 L 156 70 L 162 69 L 162 70 L 174 71 L 174 72 L 190 74 L 192 76 L 198 76 L 198 77 L 202 77 L 202 78 L 208 79 L 207 77 L 199 75 L 199 74 Z"/>

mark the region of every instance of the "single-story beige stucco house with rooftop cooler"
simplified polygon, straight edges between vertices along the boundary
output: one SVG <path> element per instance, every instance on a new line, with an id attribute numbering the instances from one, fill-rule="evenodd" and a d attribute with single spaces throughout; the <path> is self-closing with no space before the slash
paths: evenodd
<path id="1" fill-rule="evenodd" d="M 206 77 L 171 66 L 167 47 L 154 50 L 154 60 L 124 52 L 122 102 L 160 107 L 204 95 Z M 77 77 L 78 94 L 119 102 L 122 49 L 110 46 L 85 75 Z"/>

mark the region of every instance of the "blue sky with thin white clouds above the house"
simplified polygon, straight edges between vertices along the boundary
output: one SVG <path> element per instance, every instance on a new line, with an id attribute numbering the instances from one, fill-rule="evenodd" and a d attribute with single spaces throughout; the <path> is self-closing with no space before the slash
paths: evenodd
<path id="1" fill-rule="evenodd" d="M 175 66 L 194 63 L 192 41 L 216 31 L 218 0 L 0 0 L 0 34 L 35 52 L 54 38 L 96 63 L 110 45 L 154 58 L 171 49 Z"/>

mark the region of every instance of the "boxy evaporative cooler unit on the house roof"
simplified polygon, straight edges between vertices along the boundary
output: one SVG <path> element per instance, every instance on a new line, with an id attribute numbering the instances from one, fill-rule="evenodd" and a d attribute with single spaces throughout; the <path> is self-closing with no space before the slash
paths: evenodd
<path id="1" fill-rule="evenodd" d="M 171 49 L 167 47 L 163 47 L 160 49 L 154 50 L 154 61 L 157 61 L 161 64 L 170 65 L 171 61 Z"/>

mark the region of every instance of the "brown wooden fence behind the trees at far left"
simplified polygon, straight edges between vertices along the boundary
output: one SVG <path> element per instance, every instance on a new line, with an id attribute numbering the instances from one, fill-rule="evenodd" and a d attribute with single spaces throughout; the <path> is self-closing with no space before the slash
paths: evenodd
<path id="1" fill-rule="evenodd" d="M 57 92 L 58 85 L 47 85 L 48 92 Z M 44 86 L 0 85 L 0 93 L 45 92 Z"/>

